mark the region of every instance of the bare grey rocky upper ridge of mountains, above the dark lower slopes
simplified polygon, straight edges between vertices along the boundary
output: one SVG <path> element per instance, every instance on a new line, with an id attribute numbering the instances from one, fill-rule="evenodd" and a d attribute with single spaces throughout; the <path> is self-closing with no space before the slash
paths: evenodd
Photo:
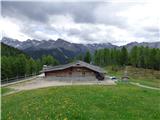
<path id="1" fill-rule="evenodd" d="M 90 50 L 94 52 L 97 49 L 103 48 L 122 48 L 123 46 L 127 49 L 131 49 L 134 46 L 148 46 L 149 48 L 160 48 L 160 42 L 131 42 L 126 45 L 116 46 L 111 43 L 92 43 L 92 44 L 78 44 L 78 43 L 71 43 L 64 39 L 57 39 L 57 40 L 35 40 L 35 39 L 28 39 L 26 41 L 19 41 L 17 39 L 12 39 L 8 37 L 3 37 L 1 42 L 13 46 L 15 48 L 21 50 L 40 50 L 40 49 L 53 49 L 53 48 L 63 48 L 69 51 L 75 52 L 86 52 L 86 50 Z"/>

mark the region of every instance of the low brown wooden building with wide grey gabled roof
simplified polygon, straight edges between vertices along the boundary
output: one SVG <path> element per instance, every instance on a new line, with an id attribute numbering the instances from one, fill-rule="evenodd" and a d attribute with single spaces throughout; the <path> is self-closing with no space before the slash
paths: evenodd
<path id="1" fill-rule="evenodd" d="M 73 63 L 58 65 L 58 66 L 44 66 L 43 72 L 45 77 L 49 78 L 79 78 L 88 79 L 95 78 L 97 80 L 104 79 L 105 71 L 98 66 L 88 64 L 83 61 L 76 61 Z"/>

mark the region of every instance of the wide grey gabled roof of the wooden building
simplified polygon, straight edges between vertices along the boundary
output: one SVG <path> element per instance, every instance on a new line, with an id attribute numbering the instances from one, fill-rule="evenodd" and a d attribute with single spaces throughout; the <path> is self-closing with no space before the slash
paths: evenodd
<path id="1" fill-rule="evenodd" d="M 88 64 L 83 61 L 76 61 L 76 62 L 72 62 L 69 64 L 58 65 L 58 66 L 46 66 L 43 68 L 42 72 L 64 70 L 64 69 L 70 68 L 70 67 L 85 67 L 85 68 L 88 68 L 88 69 L 93 70 L 95 72 L 105 73 L 105 71 L 102 68 L 95 66 L 95 65 Z"/>

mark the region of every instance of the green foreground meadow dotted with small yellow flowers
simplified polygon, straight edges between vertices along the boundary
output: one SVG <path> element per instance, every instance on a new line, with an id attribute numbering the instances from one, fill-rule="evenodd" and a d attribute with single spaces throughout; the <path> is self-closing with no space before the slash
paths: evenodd
<path id="1" fill-rule="evenodd" d="M 2 97 L 2 120 L 159 120 L 160 92 L 126 85 L 66 86 Z"/>

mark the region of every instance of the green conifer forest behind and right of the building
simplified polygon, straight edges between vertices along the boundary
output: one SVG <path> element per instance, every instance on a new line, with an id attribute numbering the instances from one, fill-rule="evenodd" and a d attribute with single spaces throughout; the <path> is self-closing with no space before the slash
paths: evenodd
<path id="1" fill-rule="evenodd" d="M 125 47 L 122 49 L 99 49 L 93 55 L 88 51 L 84 57 L 78 55 L 75 59 L 98 66 L 131 65 L 134 67 L 160 70 L 160 49 L 142 46 L 135 46 L 130 51 Z"/>

